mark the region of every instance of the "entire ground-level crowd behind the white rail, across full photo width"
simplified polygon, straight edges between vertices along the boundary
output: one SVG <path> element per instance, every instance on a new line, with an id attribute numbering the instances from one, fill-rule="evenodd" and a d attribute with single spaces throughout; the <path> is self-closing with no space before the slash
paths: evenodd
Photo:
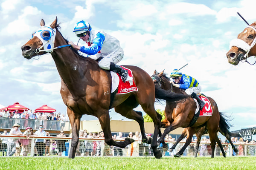
<path id="1" fill-rule="evenodd" d="M 49 132 L 44 131 L 43 125 L 40 125 L 39 129 L 33 132 L 33 129 L 31 127 L 26 127 L 26 130 L 24 133 L 21 133 L 19 129 L 20 125 L 14 124 L 13 128 L 8 133 L 7 130 L 4 130 L 4 132 L 1 134 L 1 143 L 0 143 L 0 152 L 3 153 L 3 156 L 27 156 L 29 153 L 31 153 L 31 139 L 30 136 L 51 136 Z M 3 136 L 6 135 L 14 135 L 14 136 L 26 136 L 26 138 L 20 138 L 20 139 L 11 139 L 11 138 L 4 138 Z M 71 136 L 72 134 L 70 134 Z M 150 133 L 145 133 L 146 137 L 149 139 L 152 137 Z M 60 133 L 57 135 L 58 137 L 66 137 L 64 135 L 64 131 L 60 131 Z M 134 139 L 136 142 L 133 142 L 132 144 L 128 145 L 125 148 L 119 148 L 115 146 L 108 146 L 104 142 L 104 140 L 97 140 L 97 139 L 104 139 L 104 133 L 101 132 L 87 132 L 87 130 L 80 130 L 79 131 L 79 144 L 77 146 L 76 150 L 76 156 L 100 156 L 103 154 L 103 156 L 153 156 L 153 150 L 151 149 L 151 144 L 143 143 L 141 142 L 142 137 L 141 133 L 130 132 L 127 136 L 128 138 Z M 112 136 L 113 139 L 124 139 L 122 132 L 119 132 L 117 135 L 114 134 Z M 90 139 L 90 140 L 88 140 Z M 95 140 L 94 140 L 95 139 Z M 35 140 L 35 147 L 33 150 L 34 156 L 50 156 L 50 155 L 58 155 L 62 156 L 64 154 L 64 151 L 67 151 L 66 148 L 66 142 L 67 139 L 59 139 L 59 140 L 53 140 L 53 139 L 36 139 Z M 172 147 L 172 145 L 175 142 L 175 138 L 172 138 L 171 135 L 166 135 L 165 141 L 168 143 L 169 148 Z M 162 144 L 158 147 L 159 150 L 163 152 L 165 156 L 173 156 L 175 153 L 177 153 L 181 147 L 183 147 L 184 142 L 186 141 L 186 138 L 180 142 L 175 150 L 172 150 L 170 152 L 169 150 L 166 152 L 163 152 Z M 245 155 L 244 152 L 247 152 L 247 155 L 255 155 L 256 151 L 256 145 L 247 145 L 247 150 L 245 150 L 244 144 L 256 144 L 254 140 L 251 140 L 250 142 L 248 140 L 243 141 L 242 138 L 238 140 L 236 137 L 232 137 L 233 143 L 238 148 L 239 152 L 234 153 L 233 156 L 239 155 L 243 156 Z M 192 143 L 186 148 L 183 155 L 184 156 L 194 156 L 195 155 L 195 143 L 197 142 L 197 139 L 192 139 Z M 224 150 L 226 153 L 229 153 L 229 147 L 228 141 L 225 140 L 225 142 L 222 142 Z M 103 147 L 103 151 L 102 151 Z M 67 156 L 67 153 L 65 153 Z M 211 155 L 211 147 L 210 147 L 210 140 L 207 139 L 207 137 L 203 137 L 201 139 L 201 144 L 199 146 L 199 155 L 200 156 L 208 156 Z M 221 155 L 220 148 L 216 147 L 216 155 Z"/>

